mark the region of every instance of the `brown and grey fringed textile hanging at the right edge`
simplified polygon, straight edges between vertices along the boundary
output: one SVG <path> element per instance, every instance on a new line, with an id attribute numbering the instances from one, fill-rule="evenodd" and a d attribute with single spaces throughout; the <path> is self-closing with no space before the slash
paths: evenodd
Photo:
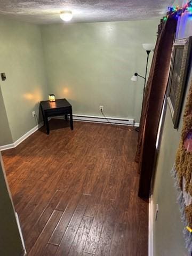
<path id="1" fill-rule="evenodd" d="M 188 226 L 192 229 L 192 82 L 183 115 L 179 148 L 171 173 L 178 189 L 181 220 L 185 225 L 183 235 L 186 247 L 189 255 L 192 255 L 192 233 L 186 228 Z"/>

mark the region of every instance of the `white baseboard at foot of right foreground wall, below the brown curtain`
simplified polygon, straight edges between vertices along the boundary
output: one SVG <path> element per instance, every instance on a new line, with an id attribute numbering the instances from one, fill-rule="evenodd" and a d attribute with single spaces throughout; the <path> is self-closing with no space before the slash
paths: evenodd
<path id="1" fill-rule="evenodd" d="M 153 195 L 149 198 L 148 256 L 153 256 Z"/>

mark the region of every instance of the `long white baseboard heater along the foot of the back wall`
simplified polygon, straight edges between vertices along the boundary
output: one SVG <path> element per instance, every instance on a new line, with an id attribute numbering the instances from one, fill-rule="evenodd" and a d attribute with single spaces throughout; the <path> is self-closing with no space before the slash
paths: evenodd
<path id="1" fill-rule="evenodd" d="M 52 117 L 52 118 L 63 119 L 65 117 L 55 116 L 55 117 Z M 134 119 L 114 118 L 114 117 L 106 117 L 106 118 L 108 119 L 108 121 L 111 124 L 135 126 Z M 82 122 L 103 123 L 103 124 L 106 123 L 106 124 L 108 124 L 109 122 L 107 121 L 106 118 L 102 117 L 102 116 L 88 116 L 88 115 L 73 114 L 73 120 L 74 121 L 82 121 Z"/>

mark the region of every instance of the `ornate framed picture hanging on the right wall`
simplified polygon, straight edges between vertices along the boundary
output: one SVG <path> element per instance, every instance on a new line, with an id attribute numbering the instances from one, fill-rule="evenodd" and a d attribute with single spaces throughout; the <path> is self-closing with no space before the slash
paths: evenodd
<path id="1" fill-rule="evenodd" d="M 192 37 L 189 37 L 175 40 L 173 44 L 167 101 L 169 103 L 175 129 L 179 126 L 183 94 L 185 92 L 191 54 L 191 42 Z"/>

